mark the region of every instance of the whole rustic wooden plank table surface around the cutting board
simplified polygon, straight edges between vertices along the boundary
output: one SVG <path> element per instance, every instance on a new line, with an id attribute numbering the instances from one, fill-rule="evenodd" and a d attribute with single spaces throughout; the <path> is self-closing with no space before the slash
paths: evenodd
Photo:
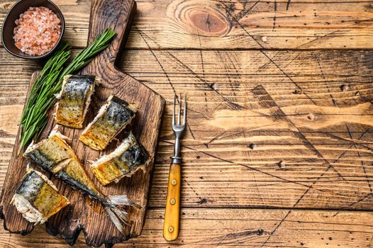
<path id="1" fill-rule="evenodd" d="M 55 0 L 74 54 L 89 0 Z M 373 2 L 137 1 L 118 67 L 167 101 L 143 234 L 117 247 L 372 247 Z M 13 1 L 0 1 L 0 19 Z M 40 64 L 0 48 L 0 184 Z M 181 232 L 162 237 L 171 103 L 188 95 Z M 66 247 L 43 226 L 4 247 Z M 85 247 L 84 235 L 77 247 Z"/>

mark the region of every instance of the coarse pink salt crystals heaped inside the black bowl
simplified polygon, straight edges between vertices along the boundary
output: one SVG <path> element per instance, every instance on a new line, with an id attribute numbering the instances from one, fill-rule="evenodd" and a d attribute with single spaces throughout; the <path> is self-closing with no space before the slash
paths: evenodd
<path id="1" fill-rule="evenodd" d="M 28 55 L 44 55 L 57 44 L 61 35 L 60 19 L 45 7 L 30 7 L 15 21 L 16 47 Z"/>

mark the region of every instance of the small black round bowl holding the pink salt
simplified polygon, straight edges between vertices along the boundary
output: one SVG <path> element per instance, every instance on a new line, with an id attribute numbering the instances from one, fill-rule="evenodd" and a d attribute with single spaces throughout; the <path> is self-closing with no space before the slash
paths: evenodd
<path id="1" fill-rule="evenodd" d="M 55 47 L 52 48 L 49 52 L 45 53 L 44 55 L 40 56 L 33 56 L 33 55 L 28 55 L 25 52 L 22 52 L 19 50 L 16 45 L 14 45 L 14 40 L 13 40 L 13 29 L 16 28 L 16 21 L 19 18 L 19 15 L 21 13 L 25 12 L 28 10 L 30 7 L 46 7 L 53 11 L 57 17 L 61 21 L 61 35 L 60 38 L 58 39 Z M 55 4 L 52 3 L 52 1 L 49 0 L 20 0 L 14 4 L 9 12 L 6 14 L 6 17 L 4 19 L 3 23 L 3 28 L 1 30 L 1 40 L 3 42 L 3 45 L 5 49 L 10 52 L 12 55 L 21 57 L 23 59 L 31 59 L 31 60 L 38 60 L 38 59 L 43 59 L 45 57 L 48 57 L 49 55 L 52 54 L 52 52 L 58 47 L 58 45 L 62 41 L 62 36 L 65 32 L 65 18 L 62 16 L 62 13 L 60 9 L 57 8 Z"/>

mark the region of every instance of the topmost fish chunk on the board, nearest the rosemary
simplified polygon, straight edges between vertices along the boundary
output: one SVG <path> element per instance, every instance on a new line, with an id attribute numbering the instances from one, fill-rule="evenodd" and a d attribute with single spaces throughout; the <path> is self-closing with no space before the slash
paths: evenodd
<path id="1" fill-rule="evenodd" d="M 91 75 L 65 76 L 58 96 L 56 122 L 70 128 L 83 128 L 96 84 L 99 84 L 99 79 Z"/>

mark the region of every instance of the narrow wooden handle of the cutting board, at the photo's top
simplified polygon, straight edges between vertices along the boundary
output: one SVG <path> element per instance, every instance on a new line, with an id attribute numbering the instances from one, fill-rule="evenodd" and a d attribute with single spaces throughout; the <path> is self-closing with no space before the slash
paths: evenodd
<path id="1" fill-rule="evenodd" d="M 104 32 L 105 28 L 116 30 L 116 36 L 111 45 L 101 52 L 93 62 L 91 62 L 84 72 L 91 69 L 113 69 L 118 52 L 126 42 L 130 26 L 135 16 L 136 3 L 133 0 L 94 0 L 91 3 L 91 18 L 89 21 L 88 44 Z M 99 64 L 97 64 L 99 63 Z M 91 72 L 94 74 L 93 72 Z"/>

